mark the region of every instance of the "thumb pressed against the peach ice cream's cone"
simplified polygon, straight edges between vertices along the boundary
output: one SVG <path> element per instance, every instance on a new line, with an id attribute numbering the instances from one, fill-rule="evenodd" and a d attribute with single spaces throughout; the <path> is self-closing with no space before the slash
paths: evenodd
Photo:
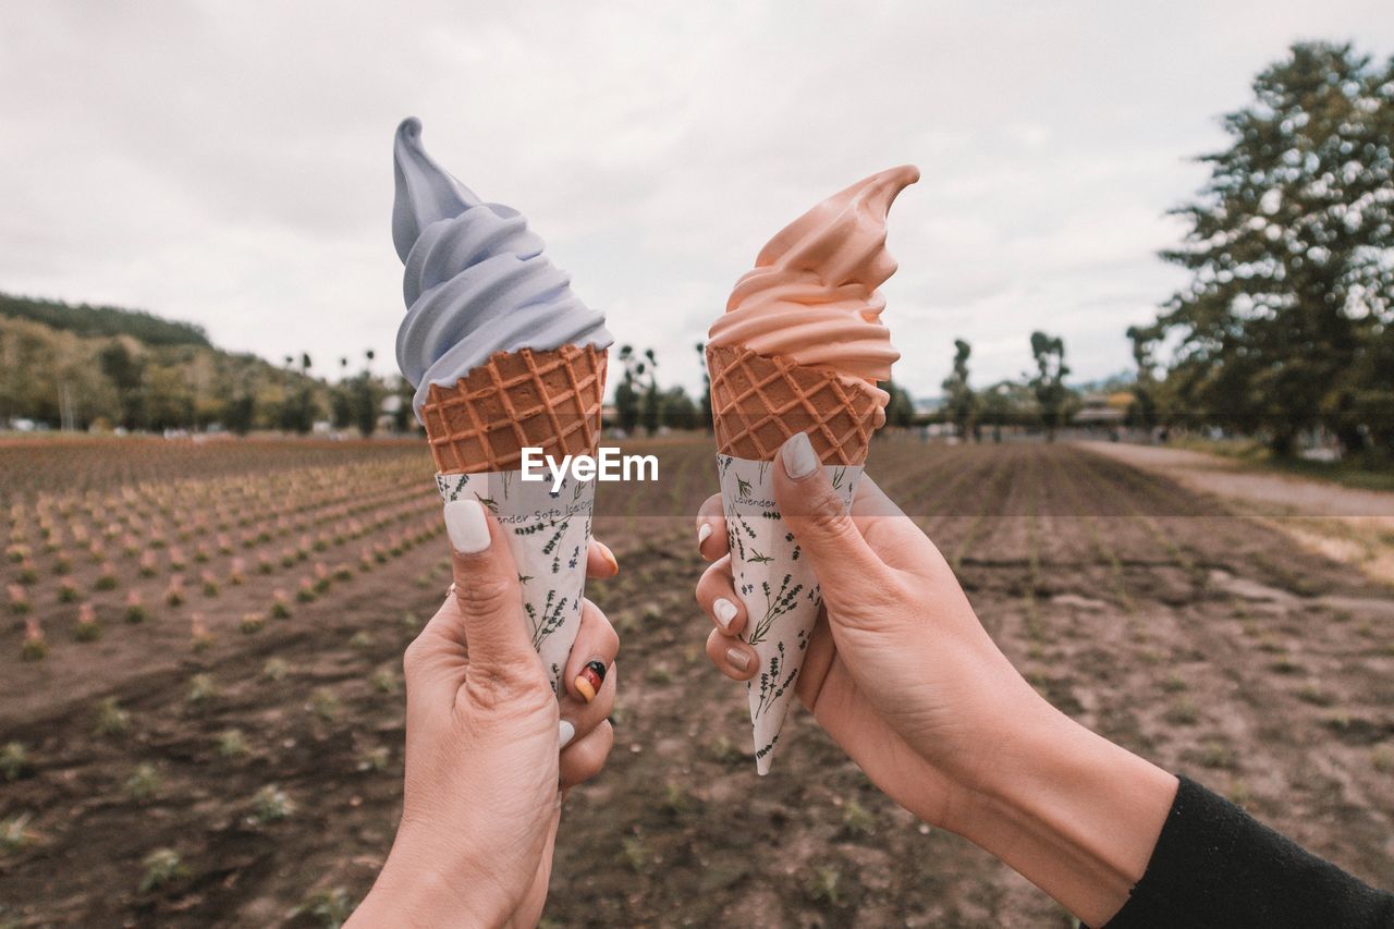
<path id="1" fill-rule="evenodd" d="M 809 557 L 824 600 L 846 603 L 852 590 L 874 584 L 885 575 L 885 562 L 852 522 L 807 435 L 789 438 L 779 448 L 778 467 L 771 470 L 779 515 Z"/>

